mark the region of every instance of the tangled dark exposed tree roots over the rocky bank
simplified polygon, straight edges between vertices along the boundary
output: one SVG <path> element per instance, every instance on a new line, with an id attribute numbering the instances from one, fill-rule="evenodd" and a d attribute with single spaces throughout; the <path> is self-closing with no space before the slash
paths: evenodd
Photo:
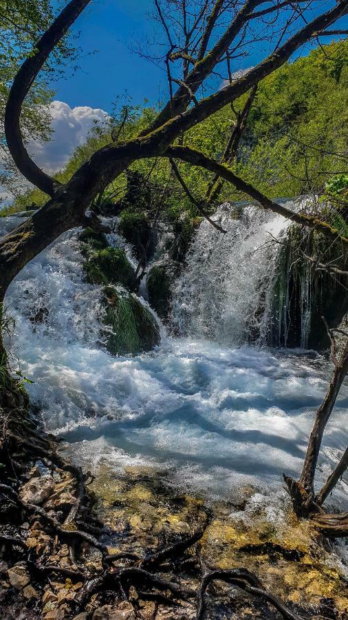
<path id="1" fill-rule="evenodd" d="M 4 414 L 1 413 L 1 409 L 0 416 L 3 420 Z M 9 526 L 6 526 L 6 531 L 0 534 L 0 546 L 5 552 L 6 548 L 8 549 L 8 557 L 13 555 L 15 561 L 21 559 L 32 576 L 33 583 L 41 584 L 39 586 L 41 589 L 45 584 L 51 583 L 52 579 L 69 579 L 72 583 L 76 583 L 78 592 L 74 599 L 69 601 L 72 615 L 85 612 L 86 606 L 96 596 L 100 604 L 110 601 L 110 597 L 117 601 L 129 601 L 136 611 L 138 597 L 144 601 L 155 602 L 153 619 L 160 605 L 180 606 L 180 601 L 184 604 L 197 600 L 197 618 L 202 620 L 206 611 L 208 586 L 213 581 L 224 581 L 252 597 L 263 599 L 283 618 L 301 620 L 280 599 L 267 592 L 259 579 L 246 569 L 212 569 L 204 574 L 199 559 L 199 548 L 195 546 L 199 544 L 210 523 L 209 513 L 206 513 L 204 523 L 191 535 L 182 537 L 172 544 L 166 544 L 158 550 L 151 550 L 143 555 L 131 550 L 109 553 L 107 545 L 102 542 L 102 535 L 109 535 L 112 532 L 93 515 L 93 502 L 86 487 L 91 479 L 90 475 L 85 475 L 80 468 L 70 464 L 58 454 L 53 438 L 45 433 L 36 432 L 25 407 L 12 408 L 10 413 L 7 413 L 6 424 L 2 424 L 2 428 L 2 448 L 6 444 L 6 466 L 9 474 L 12 472 L 13 475 L 8 475 L 6 484 L 0 483 L 0 495 L 4 499 L 4 504 L 8 503 L 12 506 L 11 510 L 15 510 L 19 524 L 23 521 L 34 521 L 33 526 L 39 530 L 41 528 L 48 540 L 48 550 L 43 555 L 38 555 L 34 549 L 28 547 L 22 534 L 14 535 Z M 47 464 L 52 472 L 55 471 L 59 479 L 62 475 L 71 478 L 75 501 L 64 514 L 59 510 L 56 513 L 50 510 L 49 514 L 43 506 L 25 502 L 23 499 L 21 474 L 17 464 L 20 468 L 28 470 L 28 465 L 37 459 Z M 316 519 L 318 527 L 328 535 L 334 535 L 338 528 L 347 528 L 347 515 L 333 515 L 329 518 L 320 511 Z M 17 531 L 21 533 L 22 530 L 17 528 Z M 69 550 L 67 566 L 60 566 L 55 561 L 54 553 L 62 546 L 67 546 Z M 95 550 L 99 558 L 100 568 L 94 569 L 94 572 L 85 561 L 89 550 Z M 279 549 L 274 552 L 279 552 Z M 298 558 L 292 557 L 292 560 L 296 559 Z M 183 573 L 187 570 L 193 571 L 194 580 L 197 579 L 201 583 L 198 592 L 182 582 Z M 169 579 L 163 577 L 166 572 L 171 573 Z M 138 611 L 135 615 L 138 617 Z"/>

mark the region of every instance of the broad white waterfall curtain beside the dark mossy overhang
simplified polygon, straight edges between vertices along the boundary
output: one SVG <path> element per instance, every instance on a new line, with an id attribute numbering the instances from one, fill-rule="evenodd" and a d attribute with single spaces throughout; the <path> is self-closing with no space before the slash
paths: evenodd
<path id="1" fill-rule="evenodd" d="M 232 215 L 228 204 L 217 210 L 215 219 L 226 234 L 206 220 L 199 227 L 173 290 L 172 321 L 182 334 L 230 345 L 268 342 L 279 256 L 272 238 L 288 223 L 258 207 L 240 207 Z"/>

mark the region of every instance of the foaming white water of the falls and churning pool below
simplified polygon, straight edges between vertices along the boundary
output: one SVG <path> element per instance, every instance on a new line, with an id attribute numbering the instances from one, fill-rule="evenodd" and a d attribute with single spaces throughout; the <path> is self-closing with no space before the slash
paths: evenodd
<path id="1" fill-rule="evenodd" d="M 19 355 L 47 429 L 72 442 L 77 462 L 117 470 L 153 465 L 170 470 L 172 484 L 225 497 L 242 484 L 279 488 L 283 471 L 298 473 L 329 366 L 316 355 L 237 346 L 250 321 L 256 324 L 261 295 L 267 308 L 274 258 L 261 251 L 249 262 L 246 256 L 268 230 L 279 234 L 283 226 L 281 218 L 259 216 L 251 227 L 251 215 L 252 209 L 236 226 L 222 214 L 226 236 L 202 225 L 175 297 L 174 316 L 186 336 L 164 336 L 157 350 L 135 358 L 112 358 L 100 346 L 100 289 L 83 281 L 76 231 L 14 280 L 6 298 L 17 324 L 14 364 Z M 0 219 L 0 235 L 15 220 Z M 34 324 L 30 318 L 41 308 L 47 320 Z M 318 482 L 348 444 L 347 404 L 344 387 Z M 345 490 L 340 483 L 338 502 Z"/>

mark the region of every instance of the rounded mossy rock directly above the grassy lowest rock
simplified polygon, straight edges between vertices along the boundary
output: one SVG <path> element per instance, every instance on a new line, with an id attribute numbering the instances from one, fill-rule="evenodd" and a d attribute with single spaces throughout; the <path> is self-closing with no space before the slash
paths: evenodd
<path id="1" fill-rule="evenodd" d="M 124 250 L 105 247 L 90 254 L 85 262 L 85 273 L 91 284 L 120 284 L 129 291 L 138 291 L 138 280 Z"/>

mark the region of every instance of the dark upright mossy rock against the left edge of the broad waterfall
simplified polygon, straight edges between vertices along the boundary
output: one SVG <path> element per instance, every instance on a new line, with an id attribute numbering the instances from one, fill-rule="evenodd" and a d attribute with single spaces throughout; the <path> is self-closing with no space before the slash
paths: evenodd
<path id="1" fill-rule="evenodd" d="M 176 262 L 162 262 L 154 265 L 147 278 L 149 303 L 158 316 L 166 322 L 171 311 L 172 285 L 180 271 Z"/>

